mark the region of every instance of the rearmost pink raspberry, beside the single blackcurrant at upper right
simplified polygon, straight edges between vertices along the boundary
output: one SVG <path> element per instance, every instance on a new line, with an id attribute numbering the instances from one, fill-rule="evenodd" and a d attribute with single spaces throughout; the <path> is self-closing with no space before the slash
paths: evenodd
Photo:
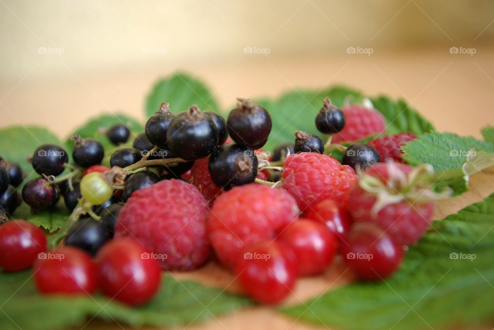
<path id="1" fill-rule="evenodd" d="M 358 141 L 371 134 L 383 133 L 386 129 L 384 117 L 375 109 L 352 104 L 342 110 L 346 124 L 340 133 L 333 134 L 334 143 Z"/>

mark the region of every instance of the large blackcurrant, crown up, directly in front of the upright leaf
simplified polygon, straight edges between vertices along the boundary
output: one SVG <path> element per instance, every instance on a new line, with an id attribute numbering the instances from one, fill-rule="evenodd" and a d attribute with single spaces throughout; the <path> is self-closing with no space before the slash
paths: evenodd
<path id="1" fill-rule="evenodd" d="M 218 144 L 215 122 L 197 105 L 175 116 L 166 133 L 168 149 L 185 160 L 210 155 Z"/>

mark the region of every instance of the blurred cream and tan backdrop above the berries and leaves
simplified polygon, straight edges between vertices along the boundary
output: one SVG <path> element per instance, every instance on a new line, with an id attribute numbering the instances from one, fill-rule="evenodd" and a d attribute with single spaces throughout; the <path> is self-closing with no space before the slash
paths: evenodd
<path id="1" fill-rule="evenodd" d="M 178 70 L 223 111 L 345 84 L 402 97 L 441 131 L 494 122 L 489 0 L 0 0 L 0 38 L 1 127 L 64 137 L 117 109 L 144 121 L 152 84 Z"/>

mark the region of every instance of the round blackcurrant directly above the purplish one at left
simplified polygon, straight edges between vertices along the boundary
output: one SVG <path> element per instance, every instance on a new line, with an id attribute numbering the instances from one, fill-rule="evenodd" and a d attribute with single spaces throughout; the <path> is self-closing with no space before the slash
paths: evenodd
<path id="1" fill-rule="evenodd" d="M 40 145 L 32 154 L 31 164 L 38 174 L 59 175 L 68 162 L 67 152 L 55 144 Z"/>

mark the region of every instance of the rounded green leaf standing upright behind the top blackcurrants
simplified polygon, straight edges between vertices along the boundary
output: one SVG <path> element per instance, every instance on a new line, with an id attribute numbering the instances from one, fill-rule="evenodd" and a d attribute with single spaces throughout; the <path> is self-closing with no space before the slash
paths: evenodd
<path id="1" fill-rule="evenodd" d="M 204 111 L 219 112 L 218 103 L 210 90 L 199 80 L 184 73 L 161 79 L 154 85 L 146 100 L 146 118 L 153 115 L 163 102 L 170 103 L 173 113 L 197 104 Z"/>

